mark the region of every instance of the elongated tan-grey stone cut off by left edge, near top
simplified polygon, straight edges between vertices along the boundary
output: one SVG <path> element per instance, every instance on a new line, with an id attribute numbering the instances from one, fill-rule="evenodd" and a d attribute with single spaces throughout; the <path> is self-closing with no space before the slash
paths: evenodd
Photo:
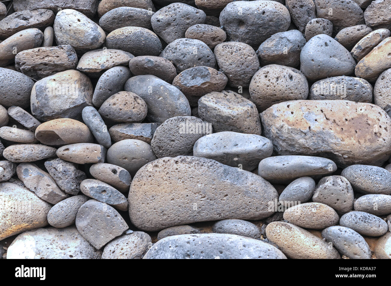
<path id="1" fill-rule="evenodd" d="M 0 66 L 13 63 L 15 55 L 41 46 L 43 33 L 37 28 L 29 28 L 13 34 L 0 43 Z"/>

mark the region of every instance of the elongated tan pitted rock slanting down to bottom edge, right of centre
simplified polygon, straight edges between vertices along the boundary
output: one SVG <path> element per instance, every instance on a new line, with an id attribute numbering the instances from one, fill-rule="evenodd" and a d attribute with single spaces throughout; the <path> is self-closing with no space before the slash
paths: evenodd
<path id="1" fill-rule="evenodd" d="M 271 222 L 266 227 L 267 239 L 293 259 L 339 259 L 329 243 L 301 227 L 287 222 Z"/>

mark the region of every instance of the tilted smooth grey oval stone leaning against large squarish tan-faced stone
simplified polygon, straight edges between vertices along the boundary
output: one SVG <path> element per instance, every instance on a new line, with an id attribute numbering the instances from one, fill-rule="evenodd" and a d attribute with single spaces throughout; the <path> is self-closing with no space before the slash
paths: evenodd
<path id="1" fill-rule="evenodd" d="M 116 66 L 105 71 L 94 89 L 93 105 L 99 108 L 110 96 L 123 91 L 125 83 L 130 77 L 129 69 L 124 66 Z"/>

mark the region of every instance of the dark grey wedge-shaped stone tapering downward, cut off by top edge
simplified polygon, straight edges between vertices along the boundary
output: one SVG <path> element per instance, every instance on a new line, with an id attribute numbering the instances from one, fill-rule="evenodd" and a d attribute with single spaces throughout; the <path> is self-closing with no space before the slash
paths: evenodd
<path id="1" fill-rule="evenodd" d="M 300 32 L 304 32 L 307 23 L 316 18 L 315 5 L 311 0 L 285 0 L 285 5 Z"/>

